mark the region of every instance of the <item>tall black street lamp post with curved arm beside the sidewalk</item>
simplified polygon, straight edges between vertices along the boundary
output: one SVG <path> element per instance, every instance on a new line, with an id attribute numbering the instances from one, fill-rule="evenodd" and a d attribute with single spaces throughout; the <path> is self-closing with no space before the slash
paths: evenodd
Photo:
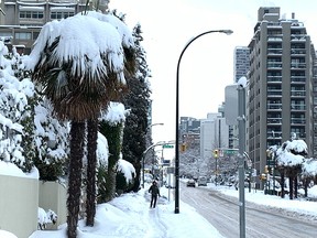
<path id="1" fill-rule="evenodd" d="M 198 37 L 209 34 L 209 33 L 225 33 L 225 34 L 232 34 L 233 31 L 231 30 L 214 30 L 214 31 L 207 31 L 203 32 L 195 37 L 193 37 L 183 48 L 178 63 L 177 63 L 177 69 L 176 69 L 176 123 L 175 123 L 175 130 L 176 130 L 176 136 L 175 136 L 175 214 L 179 213 L 179 148 L 178 148 L 178 137 L 179 137 L 179 131 L 178 131 L 178 123 L 179 123 L 179 65 L 182 57 L 187 50 L 187 47 Z"/>

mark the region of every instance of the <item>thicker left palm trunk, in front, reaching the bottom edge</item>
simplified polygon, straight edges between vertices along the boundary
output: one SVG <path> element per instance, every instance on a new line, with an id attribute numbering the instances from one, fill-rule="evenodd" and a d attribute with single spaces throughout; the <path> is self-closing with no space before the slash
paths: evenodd
<path id="1" fill-rule="evenodd" d="M 72 122 L 70 129 L 70 162 L 67 198 L 67 237 L 76 238 L 79 214 L 79 198 L 81 186 L 81 169 L 85 142 L 85 123 Z"/>

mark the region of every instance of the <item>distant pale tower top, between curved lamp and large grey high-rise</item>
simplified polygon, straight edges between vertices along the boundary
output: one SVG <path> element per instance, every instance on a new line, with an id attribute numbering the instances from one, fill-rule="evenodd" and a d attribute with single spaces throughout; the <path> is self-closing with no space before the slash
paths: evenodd
<path id="1" fill-rule="evenodd" d="M 245 77 L 250 69 L 250 48 L 248 46 L 237 46 L 233 56 L 234 83 L 241 77 Z"/>

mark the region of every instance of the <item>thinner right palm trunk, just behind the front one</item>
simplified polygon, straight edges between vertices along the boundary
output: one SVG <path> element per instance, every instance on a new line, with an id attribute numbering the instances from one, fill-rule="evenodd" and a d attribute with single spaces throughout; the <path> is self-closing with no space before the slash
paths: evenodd
<path id="1" fill-rule="evenodd" d="M 96 215 L 96 169 L 97 169 L 97 137 L 98 137 L 98 120 L 92 119 L 88 121 L 88 165 L 87 165 L 87 201 L 86 213 L 87 220 L 86 226 L 94 226 L 94 219 Z"/>

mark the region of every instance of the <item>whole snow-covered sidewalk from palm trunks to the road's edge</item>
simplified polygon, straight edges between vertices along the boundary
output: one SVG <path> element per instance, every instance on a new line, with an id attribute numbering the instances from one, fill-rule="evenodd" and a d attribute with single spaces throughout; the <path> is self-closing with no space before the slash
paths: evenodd
<path id="1" fill-rule="evenodd" d="M 212 225 L 185 203 L 179 203 L 179 214 L 174 213 L 174 199 L 168 190 L 161 187 L 156 208 L 150 208 L 149 187 L 138 193 L 124 194 L 110 203 L 100 204 L 94 227 L 78 223 L 78 238 L 222 238 Z M 171 193 L 172 197 L 172 193 Z M 67 238 L 66 224 L 58 230 L 37 230 L 30 238 Z"/>

